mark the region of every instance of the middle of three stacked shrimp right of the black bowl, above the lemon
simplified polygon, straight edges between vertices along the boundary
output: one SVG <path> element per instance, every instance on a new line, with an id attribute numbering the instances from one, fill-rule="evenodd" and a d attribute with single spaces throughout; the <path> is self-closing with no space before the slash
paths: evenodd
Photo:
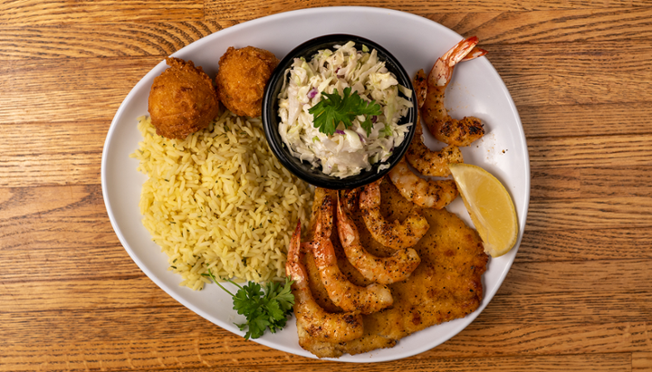
<path id="1" fill-rule="evenodd" d="M 417 96 L 418 108 L 423 106 L 426 98 L 426 73 L 423 70 L 417 72 L 414 80 L 414 87 Z M 448 145 L 439 151 L 433 151 L 424 144 L 423 127 L 419 119 L 417 110 L 417 120 L 415 136 L 406 152 L 406 159 L 410 166 L 415 167 L 417 171 L 424 176 L 450 176 L 448 164 L 464 163 L 462 152 L 455 145 Z"/>

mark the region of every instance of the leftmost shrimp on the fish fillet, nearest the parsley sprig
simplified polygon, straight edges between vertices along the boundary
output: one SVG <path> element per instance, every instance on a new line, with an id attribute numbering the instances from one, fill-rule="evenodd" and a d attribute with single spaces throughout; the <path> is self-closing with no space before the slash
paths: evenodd
<path id="1" fill-rule="evenodd" d="M 297 327 L 303 329 L 312 338 L 321 341 L 347 342 L 362 337 L 364 328 L 360 314 L 326 312 L 315 302 L 301 257 L 301 222 L 299 222 L 292 234 L 285 263 L 285 272 L 294 281 L 292 293 L 296 299 L 294 315 L 297 318 Z"/>

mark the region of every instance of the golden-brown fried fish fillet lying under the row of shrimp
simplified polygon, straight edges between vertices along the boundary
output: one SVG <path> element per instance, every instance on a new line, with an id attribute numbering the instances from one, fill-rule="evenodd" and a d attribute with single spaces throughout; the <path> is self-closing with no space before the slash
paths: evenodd
<path id="1" fill-rule="evenodd" d="M 299 344 L 319 358 L 391 348 L 399 339 L 418 330 L 464 318 L 482 302 L 482 274 L 486 271 L 488 257 L 475 230 L 446 209 L 422 209 L 408 202 L 387 180 L 381 184 L 381 193 L 381 214 L 388 221 L 396 218 L 402 221 L 415 209 L 426 217 L 430 229 L 413 247 L 421 263 L 407 281 L 388 285 L 394 297 L 392 308 L 363 316 L 365 335 L 360 339 L 346 343 L 320 342 L 299 329 Z M 336 195 L 331 190 L 317 189 L 313 205 L 321 205 L 321 198 L 329 194 Z M 362 244 L 370 253 L 381 256 L 393 252 L 371 237 L 359 210 L 354 209 L 351 217 L 358 227 Z M 311 234 L 308 233 L 309 240 Z M 331 236 L 341 271 L 358 285 L 369 284 L 347 261 L 337 234 Z M 305 264 L 315 300 L 326 310 L 340 311 L 328 298 L 311 254 L 305 255 Z"/>

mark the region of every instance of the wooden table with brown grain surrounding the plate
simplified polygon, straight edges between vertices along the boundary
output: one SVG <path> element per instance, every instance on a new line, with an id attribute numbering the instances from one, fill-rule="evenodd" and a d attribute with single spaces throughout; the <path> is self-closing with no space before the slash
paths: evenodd
<path id="1" fill-rule="evenodd" d="M 532 198 L 512 270 L 469 327 L 413 358 L 337 364 L 214 326 L 131 261 L 102 200 L 110 121 L 164 56 L 321 5 L 478 35 L 523 119 Z M 640 0 L 5 0 L 0 370 L 652 370 L 651 59 Z"/>

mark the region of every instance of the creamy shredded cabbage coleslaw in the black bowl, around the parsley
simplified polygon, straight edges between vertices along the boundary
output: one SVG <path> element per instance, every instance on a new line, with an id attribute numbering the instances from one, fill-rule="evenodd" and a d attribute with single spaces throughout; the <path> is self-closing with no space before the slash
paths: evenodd
<path id="1" fill-rule="evenodd" d="M 412 91 L 398 84 L 396 76 L 388 72 L 385 62 L 379 61 L 377 51 L 355 48 L 354 42 L 336 45 L 317 52 L 310 62 L 295 58 L 288 69 L 290 76 L 283 81 L 279 93 L 279 134 L 293 157 L 321 167 L 323 173 L 345 178 L 370 170 L 376 163 L 385 163 L 405 138 L 411 124 L 398 125 L 408 114 Z M 287 73 L 287 72 L 286 72 Z M 356 91 L 362 100 L 375 100 L 382 114 L 372 118 L 369 136 L 360 126 L 364 117 L 353 120 L 345 129 L 340 123 L 331 136 L 314 128 L 312 106 L 322 100 L 321 92 L 343 94 L 345 88 Z M 379 170 L 389 167 L 380 164 Z"/>

